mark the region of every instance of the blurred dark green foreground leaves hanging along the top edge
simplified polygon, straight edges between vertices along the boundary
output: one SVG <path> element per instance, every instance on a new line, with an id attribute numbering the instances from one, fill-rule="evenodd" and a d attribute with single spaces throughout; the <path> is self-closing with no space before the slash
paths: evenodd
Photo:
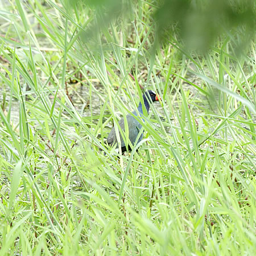
<path id="1" fill-rule="evenodd" d="M 106 28 L 117 18 L 133 20 L 132 2 L 120 0 L 73 0 L 68 6 L 80 9 L 90 6 L 94 18 L 87 33 Z M 141 1 L 139 1 L 141 2 Z M 218 38 L 226 34 L 235 43 L 238 52 L 248 46 L 255 31 L 255 3 L 253 0 L 189 1 L 164 0 L 148 3 L 154 9 L 151 14 L 156 25 L 156 38 L 164 42 L 175 35 L 192 49 L 206 51 Z M 97 20 L 97 22 L 96 22 Z M 96 26 L 97 24 L 97 26 Z M 86 36 L 88 37 L 88 36 Z"/>

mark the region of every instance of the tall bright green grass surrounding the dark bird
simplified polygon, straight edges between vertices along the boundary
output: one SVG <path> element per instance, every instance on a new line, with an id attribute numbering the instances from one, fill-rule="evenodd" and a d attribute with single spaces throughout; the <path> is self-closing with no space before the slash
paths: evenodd
<path id="1" fill-rule="evenodd" d="M 253 255 L 255 42 L 158 46 L 146 2 L 95 34 L 89 7 L 1 10 L 1 255 Z M 118 160 L 104 138 L 139 85 L 162 102 Z"/>

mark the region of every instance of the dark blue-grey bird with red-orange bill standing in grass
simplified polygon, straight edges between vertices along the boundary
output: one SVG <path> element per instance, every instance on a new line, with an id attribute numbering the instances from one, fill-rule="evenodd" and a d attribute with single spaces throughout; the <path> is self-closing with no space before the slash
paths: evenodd
<path id="1" fill-rule="evenodd" d="M 159 101 L 159 98 L 160 98 L 160 96 L 158 96 L 158 94 L 156 94 L 153 90 L 147 90 L 147 92 L 145 92 L 143 94 L 144 106 L 147 110 L 147 113 L 149 112 L 150 104 L 152 102 Z M 139 115 L 142 117 L 142 115 L 143 115 L 142 102 L 139 102 L 138 112 L 139 112 Z M 133 115 L 138 116 L 136 110 L 134 110 L 132 113 L 133 113 Z M 138 120 L 136 118 L 133 117 L 133 115 L 131 115 L 131 114 L 126 115 L 126 120 L 127 120 L 127 124 L 128 124 L 128 129 L 129 129 L 129 140 L 130 140 L 131 144 L 133 146 L 135 146 L 134 144 L 135 144 L 135 141 L 138 137 L 139 132 L 142 129 L 142 125 L 141 125 L 141 123 L 138 122 Z M 143 122 L 144 122 L 144 119 L 143 119 Z M 126 132 L 125 132 L 125 119 L 122 118 L 118 123 L 119 123 L 119 126 L 121 127 L 121 129 L 123 130 L 123 134 L 126 134 Z M 131 150 L 130 144 L 127 148 L 126 145 L 125 145 L 125 141 L 123 140 L 120 131 L 119 131 L 119 137 L 120 137 L 120 140 L 121 140 L 122 154 L 125 151 L 130 151 Z M 142 137 L 143 137 L 143 133 L 140 135 L 137 143 L 142 141 Z M 116 145 L 115 148 L 118 148 L 117 134 L 115 133 L 115 128 L 114 127 L 112 128 L 112 130 L 110 131 L 110 133 L 108 135 L 107 143 L 110 146 Z"/>

